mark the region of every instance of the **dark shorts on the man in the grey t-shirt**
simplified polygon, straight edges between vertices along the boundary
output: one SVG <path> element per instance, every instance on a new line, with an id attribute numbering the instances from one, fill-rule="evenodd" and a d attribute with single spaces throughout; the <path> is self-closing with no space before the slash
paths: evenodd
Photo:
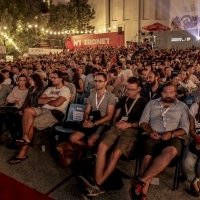
<path id="1" fill-rule="evenodd" d="M 83 133 L 85 136 L 96 135 L 98 137 L 101 137 L 103 132 L 107 129 L 107 127 L 108 127 L 108 125 L 101 124 L 101 125 L 93 127 L 93 128 L 84 128 L 83 122 L 81 122 L 78 125 L 78 127 L 75 128 L 75 130 Z"/>

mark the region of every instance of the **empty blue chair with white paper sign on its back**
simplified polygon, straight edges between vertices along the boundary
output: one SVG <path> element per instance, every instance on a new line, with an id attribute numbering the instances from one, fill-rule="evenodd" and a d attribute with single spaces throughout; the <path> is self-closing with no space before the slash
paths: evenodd
<path id="1" fill-rule="evenodd" d="M 83 113 L 86 105 L 82 104 L 70 104 L 67 119 L 63 123 L 77 122 L 80 123 L 83 120 Z M 61 133 L 71 134 L 74 132 L 74 129 L 69 127 L 64 127 L 63 125 L 55 126 L 55 130 Z"/>

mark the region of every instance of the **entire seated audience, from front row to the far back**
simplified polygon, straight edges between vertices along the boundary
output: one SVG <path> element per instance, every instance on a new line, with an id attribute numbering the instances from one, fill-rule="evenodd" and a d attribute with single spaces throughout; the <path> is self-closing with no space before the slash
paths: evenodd
<path id="1" fill-rule="evenodd" d="M 61 122 L 70 103 L 86 104 L 83 121 L 69 137 L 96 150 L 94 176 L 79 176 L 85 196 L 103 193 L 120 157 L 129 158 L 138 143 L 141 166 L 131 178 L 132 199 L 146 200 L 151 179 L 182 154 L 191 193 L 199 196 L 199 48 L 65 49 L 1 59 L 0 70 L 0 143 L 5 124 L 12 137 L 7 148 L 21 146 L 10 164 L 28 158 L 35 129 Z"/>

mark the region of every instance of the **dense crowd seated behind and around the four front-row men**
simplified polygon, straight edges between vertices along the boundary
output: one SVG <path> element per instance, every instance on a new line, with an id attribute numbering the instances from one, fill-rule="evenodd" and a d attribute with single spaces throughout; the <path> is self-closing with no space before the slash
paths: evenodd
<path id="1" fill-rule="evenodd" d="M 140 80 L 140 95 L 147 101 L 160 98 L 163 83 L 171 82 L 177 88 L 178 100 L 189 107 L 197 102 L 195 108 L 192 105 L 193 113 L 190 115 L 195 117 L 200 111 L 200 49 L 195 46 L 187 49 L 152 49 L 148 45 L 65 49 L 59 54 L 15 59 L 13 62 L 5 62 L 2 58 L 0 70 L 0 109 L 7 107 L 6 112 L 10 112 L 6 119 L 5 113 L 0 113 L 0 135 L 5 122 L 13 141 L 23 135 L 20 120 L 24 109 L 40 106 L 38 98 L 52 86 L 52 78 L 56 78 L 52 73 L 55 71 L 62 73 L 63 84 L 70 91 L 69 103 L 86 104 L 96 89 L 94 78 L 101 72 L 106 76 L 106 90 L 117 101 L 127 95 L 127 80 L 135 77 Z M 198 117 L 195 119 L 199 121 Z M 198 123 L 195 125 L 199 127 Z M 196 130 L 195 125 L 193 123 Z M 199 138 L 198 133 L 193 133 L 192 137 Z M 196 139 L 196 144 L 199 143 L 200 140 Z M 12 148 L 13 144 L 8 147 Z M 186 164 L 184 166 L 187 168 Z M 190 174 L 189 178 L 195 192 L 199 175 L 193 177 Z"/>

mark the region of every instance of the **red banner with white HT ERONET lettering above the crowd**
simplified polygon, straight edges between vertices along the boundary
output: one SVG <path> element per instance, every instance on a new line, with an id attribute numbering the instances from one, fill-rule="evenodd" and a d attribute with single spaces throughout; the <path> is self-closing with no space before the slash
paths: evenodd
<path id="1" fill-rule="evenodd" d="M 70 36 L 66 40 L 66 48 L 97 47 L 97 46 L 124 46 L 124 34 L 102 33 Z"/>

